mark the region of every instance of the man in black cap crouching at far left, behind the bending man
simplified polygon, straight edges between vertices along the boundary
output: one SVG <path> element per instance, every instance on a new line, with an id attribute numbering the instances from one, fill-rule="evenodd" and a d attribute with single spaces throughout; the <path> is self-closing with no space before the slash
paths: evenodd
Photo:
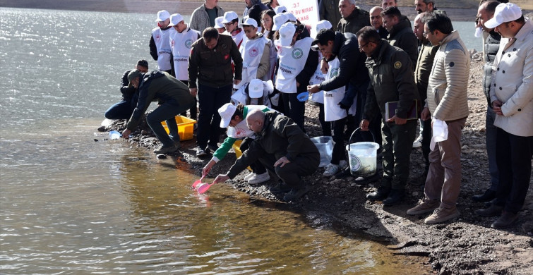
<path id="1" fill-rule="evenodd" d="M 148 73 L 148 61 L 145 61 L 143 59 L 137 61 L 136 68 L 141 73 Z M 125 71 L 122 75 L 122 80 L 120 82 L 120 92 L 122 93 L 122 99 L 120 102 L 114 104 L 113 106 L 109 107 L 107 111 L 105 111 L 105 118 L 128 119 L 130 118 L 131 113 L 133 113 L 133 110 L 135 109 L 135 106 L 137 104 L 138 94 L 136 94 L 137 89 L 135 87 L 129 86 L 128 83 L 128 73 L 130 73 L 131 71 L 133 70 Z"/>

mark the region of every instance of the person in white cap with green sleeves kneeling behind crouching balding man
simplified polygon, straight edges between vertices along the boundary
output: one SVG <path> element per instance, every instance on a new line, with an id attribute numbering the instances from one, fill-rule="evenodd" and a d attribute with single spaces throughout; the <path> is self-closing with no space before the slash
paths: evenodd
<path id="1" fill-rule="evenodd" d="M 261 83 L 261 85 L 263 85 L 263 83 Z M 232 146 L 236 140 L 241 140 L 244 138 L 240 147 L 241 152 L 244 152 L 246 149 L 248 149 L 250 143 L 256 138 L 256 133 L 248 128 L 244 118 L 248 116 L 249 112 L 256 109 L 263 112 L 271 111 L 268 106 L 265 105 L 244 106 L 243 104 L 239 104 L 234 106 L 231 103 L 224 104 L 222 107 L 220 107 L 220 109 L 218 109 L 218 114 L 220 114 L 220 118 L 222 118 L 220 120 L 220 128 L 227 128 L 227 138 L 224 140 L 222 145 L 218 147 L 215 153 L 212 154 L 212 158 L 208 164 L 203 167 L 202 176 L 207 175 L 212 166 L 220 161 L 220 159 L 224 159 L 229 149 L 232 149 Z M 244 180 L 248 181 L 248 184 L 259 184 L 270 180 L 268 171 L 266 171 L 265 166 L 260 164 L 259 161 L 250 164 L 250 168 L 252 169 L 252 172 L 249 173 L 248 176 L 244 177 Z"/>

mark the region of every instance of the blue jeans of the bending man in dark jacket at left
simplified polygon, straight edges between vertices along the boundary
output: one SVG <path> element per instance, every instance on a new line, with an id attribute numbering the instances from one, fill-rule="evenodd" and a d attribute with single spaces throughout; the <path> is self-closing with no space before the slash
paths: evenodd
<path id="1" fill-rule="evenodd" d="M 174 145 L 174 140 L 179 141 L 178 124 L 176 118 L 182 111 L 186 111 L 191 106 L 182 106 L 179 104 L 164 103 L 158 106 L 152 113 L 146 116 L 146 122 L 152 129 L 157 139 L 162 143 L 163 147 L 170 147 Z M 170 135 L 164 130 L 161 125 L 162 121 L 167 122 Z"/>

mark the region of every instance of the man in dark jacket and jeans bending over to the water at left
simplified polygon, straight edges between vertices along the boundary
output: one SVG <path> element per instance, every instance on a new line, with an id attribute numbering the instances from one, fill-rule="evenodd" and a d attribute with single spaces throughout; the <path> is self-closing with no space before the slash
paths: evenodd
<path id="1" fill-rule="evenodd" d="M 126 130 L 122 132 L 122 138 L 128 138 L 131 131 L 137 128 L 140 117 L 148 109 L 152 100 L 157 99 L 159 106 L 146 116 L 148 126 L 162 143 L 162 146 L 155 149 L 154 153 L 176 152 L 180 145 L 178 125 L 174 117 L 191 109 L 194 104 L 194 97 L 189 94 L 187 85 L 161 71 L 141 73 L 139 70 L 134 70 L 128 74 L 128 81 L 130 86 L 138 88 L 139 99 L 126 125 Z M 167 121 L 170 136 L 164 130 L 162 121 Z"/>

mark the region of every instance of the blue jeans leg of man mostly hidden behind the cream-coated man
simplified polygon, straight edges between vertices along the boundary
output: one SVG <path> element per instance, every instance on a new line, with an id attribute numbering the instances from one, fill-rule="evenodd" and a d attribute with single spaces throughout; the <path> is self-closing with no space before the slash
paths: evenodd
<path id="1" fill-rule="evenodd" d="M 490 190 L 498 190 L 498 183 L 500 182 L 498 165 L 496 164 L 496 126 L 494 126 L 494 119 L 496 119 L 496 113 L 491 107 L 486 109 L 485 119 L 485 142 L 486 142 L 486 156 L 489 159 L 489 173 L 491 174 L 491 187 Z"/>

